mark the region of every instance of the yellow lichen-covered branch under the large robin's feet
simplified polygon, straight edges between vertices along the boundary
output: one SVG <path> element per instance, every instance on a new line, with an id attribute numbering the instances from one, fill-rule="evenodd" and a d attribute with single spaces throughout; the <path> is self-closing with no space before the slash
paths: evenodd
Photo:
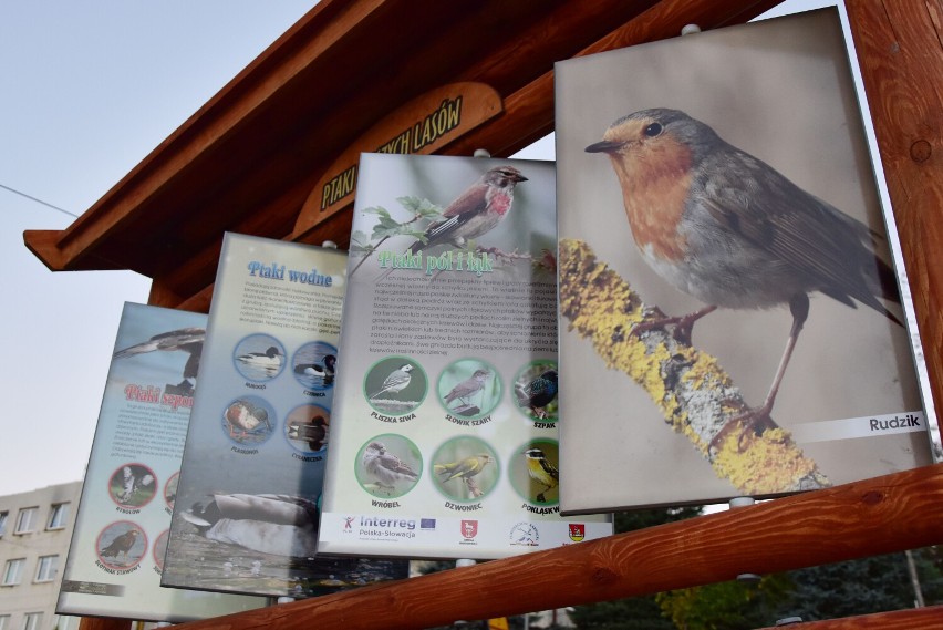
<path id="1" fill-rule="evenodd" d="M 718 477 L 753 496 L 831 485 L 789 432 L 771 420 L 761 432 L 733 426 L 722 433 L 749 411 L 739 390 L 716 359 L 670 331 L 655 327 L 633 333 L 635 324 L 664 316 L 642 303 L 586 242 L 562 239 L 558 264 L 560 310 L 569 329 L 589 338 L 608 368 L 641 385 L 664 421 L 691 440 Z"/>

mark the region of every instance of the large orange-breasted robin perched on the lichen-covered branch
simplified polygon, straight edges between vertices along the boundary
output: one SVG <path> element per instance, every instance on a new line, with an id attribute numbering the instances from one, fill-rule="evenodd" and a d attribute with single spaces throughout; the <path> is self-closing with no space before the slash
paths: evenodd
<path id="1" fill-rule="evenodd" d="M 718 307 L 789 304 L 792 326 L 766 400 L 735 419 L 744 432 L 759 433 L 770 423 L 809 313 L 809 293 L 819 291 L 851 308 L 861 302 L 901 324 L 881 302 L 900 303 L 900 295 L 893 270 L 874 252 L 878 235 L 706 124 L 677 110 L 643 110 L 615 121 L 602 142 L 586 151 L 609 156 L 632 236 L 649 266 L 707 304 L 640 324 L 636 332 L 675 324 L 683 339 L 694 321 Z"/>

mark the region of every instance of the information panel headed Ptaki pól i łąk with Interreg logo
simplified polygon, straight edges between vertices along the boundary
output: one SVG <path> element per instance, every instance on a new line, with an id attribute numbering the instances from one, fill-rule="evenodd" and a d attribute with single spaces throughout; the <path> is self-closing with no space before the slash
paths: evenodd
<path id="1" fill-rule="evenodd" d="M 552 163 L 361 156 L 319 551 L 612 533 L 560 516 L 556 244 Z"/>

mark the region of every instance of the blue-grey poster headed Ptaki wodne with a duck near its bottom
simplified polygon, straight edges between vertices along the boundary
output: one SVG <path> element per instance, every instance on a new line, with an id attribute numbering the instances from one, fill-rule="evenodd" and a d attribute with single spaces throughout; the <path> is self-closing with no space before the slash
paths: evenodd
<path id="1" fill-rule="evenodd" d="M 335 249 L 225 236 L 163 586 L 305 598 L 406 577 L 315 557 L 345 270 Z"/>

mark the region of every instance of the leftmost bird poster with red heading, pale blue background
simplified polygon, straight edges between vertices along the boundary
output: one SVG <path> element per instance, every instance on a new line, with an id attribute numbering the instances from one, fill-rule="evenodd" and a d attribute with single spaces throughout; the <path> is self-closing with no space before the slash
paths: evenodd
<path id="1" fill-rule="evenodd" d="M 160 588 L 206 316 L 126 303 L 59 614 L 182 622 L 259 608 L 259 597 Z"/>

